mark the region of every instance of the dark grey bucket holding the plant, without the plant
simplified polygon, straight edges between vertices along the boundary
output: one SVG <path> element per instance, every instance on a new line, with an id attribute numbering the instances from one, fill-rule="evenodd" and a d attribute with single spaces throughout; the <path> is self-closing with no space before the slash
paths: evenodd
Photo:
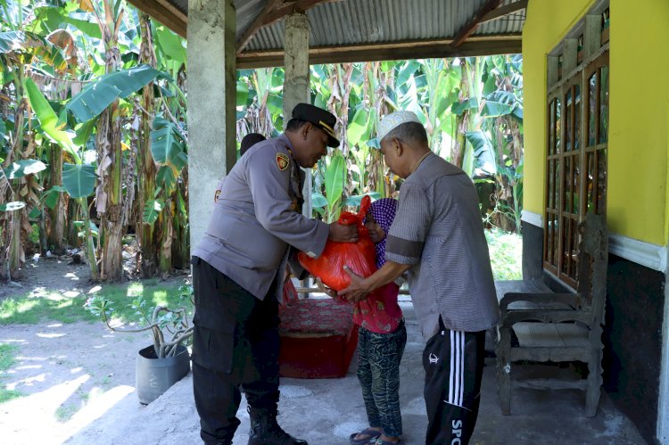
<path id="1" fill-rule="evenodd" d="M 141 403 L 149 404 L 158 399 L 170 386 L 181 380 L 191 369 L 186 346 L 179 345 L 173 357 L 156 358 L 153 346 L 137 354 L 135 387 Z"/>

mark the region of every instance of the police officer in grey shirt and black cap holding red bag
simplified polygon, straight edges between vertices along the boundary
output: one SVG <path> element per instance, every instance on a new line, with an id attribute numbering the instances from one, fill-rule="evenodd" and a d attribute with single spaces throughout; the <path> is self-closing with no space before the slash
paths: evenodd
<path id="1" fill-rule="evenodd" d="M 335 116 L 309 103 L 285 133 L 262 141 L 228 174 L 193 251 L 193 387 L 205 443 L 232 443 L 246 394 L 250 445 L 306 444 L 277 424 L 278 302 L 289 246 L 318 257 L 329 238 L 358 240 L 354 227 L 301 215 L 303 173 L 338 146 Z"/>

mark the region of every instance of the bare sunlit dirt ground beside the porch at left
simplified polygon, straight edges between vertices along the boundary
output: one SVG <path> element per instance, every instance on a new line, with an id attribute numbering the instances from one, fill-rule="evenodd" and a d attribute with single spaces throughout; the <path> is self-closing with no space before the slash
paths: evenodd
<path id="1" fill-rule="evenodd" d="M 36 298 L 54 291 L 70 297 L 90 293 L 97 284 L 88 281 L 87 265 L 69 263 L 29 262 L 21 287 L 0 284 L 0 301 L 26 293 Z M 127 396 L 135 391 L 137 350 L 151 344 L 149 334 L 111 333 L 96 322 L 45 322 L 2 326 L 0 343 L 18 348 L 16 363 L 0 373 L 0 383 L 24 394 L 0 404 L 2 443 L 62 443 L 103 413 L 113 425 L 108 416 L 122 412 L 107 411 L 120 400 L 127 400 L 128 409 L 145 408 L 136 394 Z"/>

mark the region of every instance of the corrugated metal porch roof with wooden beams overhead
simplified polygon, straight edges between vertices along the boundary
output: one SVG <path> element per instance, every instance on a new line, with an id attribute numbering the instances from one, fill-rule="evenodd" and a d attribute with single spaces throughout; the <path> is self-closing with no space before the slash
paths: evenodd
<path id="1" fill-rule="evenodd" d="M 129 0 L 181 35 L 186 35 L 188 0 Z M 269 0 L 234 0 L 237 41 L 253 26 Z M 480 23 L 462 45 L 450 45 L 490 0 L 331 0 L 307 10 L 310 53 L 320 62 L 380 60 L 375 57 L 445 57 L 520 51 L 525 10 Z M 503 0 L 498 9 L 527 0 Z M 314 4 L 310 0 L 284 0 Z M 178 10 L 178 11 L 177 11 Z M 497 11 L 495 11 L 497 12 Z M 508 12 L 505 11 L 505 12 Z M 498 12 L 499 13 L 499 12 Z M 284 20 L 257 29 L 237 54 L 240 66 L 283 62 Z M 414 54 L 412 48 L 420 48 Z M 377 51 L 378 50 L 378 51 Z M 394 50 L 398 50 L 395 52 Z"/>

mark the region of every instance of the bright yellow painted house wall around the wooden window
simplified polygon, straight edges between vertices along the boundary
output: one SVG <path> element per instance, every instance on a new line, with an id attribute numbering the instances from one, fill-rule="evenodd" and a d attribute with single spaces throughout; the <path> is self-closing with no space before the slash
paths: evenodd
<path id="1" fill-rule="evenodd" d="M 593 0 L 531 0 L 523 29 L 524 209 L 543 214 L 546 57 Z M 669 235 L 669 2 L 611 0 L 609 229 L 665 245 Z"/>

